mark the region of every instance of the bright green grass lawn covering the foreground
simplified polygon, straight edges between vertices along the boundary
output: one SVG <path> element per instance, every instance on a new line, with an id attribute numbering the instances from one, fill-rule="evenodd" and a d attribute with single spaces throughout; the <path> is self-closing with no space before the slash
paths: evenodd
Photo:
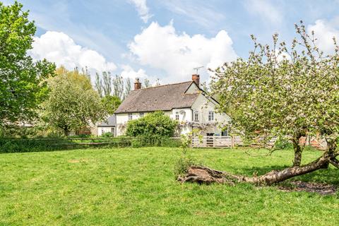
<path id="1" fill-rule="evenodd" d="M 241 149 L 189 152 L 215 169 L 247 175 L 292 160 L 286 150 L 270 157 Z M 1 154 L 0 225 L 338 225 L 338 195 L 179 184 L 179 155 L 179 148 Z M 307 151 L 304 160 L 316 155 Z M 297 179 L 339 185 L 339 170 Z"/>

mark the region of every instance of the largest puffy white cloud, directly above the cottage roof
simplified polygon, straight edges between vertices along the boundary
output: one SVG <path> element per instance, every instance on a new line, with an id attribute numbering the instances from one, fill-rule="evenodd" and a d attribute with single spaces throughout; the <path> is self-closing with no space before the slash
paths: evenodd
<path id="1" fill-rule="evenodd" d="M 151 23 L 134 37 L 129 49 L 140 64 L 164 70 L 168 76 L 163 80 L 167 82 L 186 81 L 197 66 L 204 66 L 205 71 L 215 69 L 237 57 L 225 30 L 212 38 L 190 36 L 177 34 L 172 23 L 163 27 Z"/>

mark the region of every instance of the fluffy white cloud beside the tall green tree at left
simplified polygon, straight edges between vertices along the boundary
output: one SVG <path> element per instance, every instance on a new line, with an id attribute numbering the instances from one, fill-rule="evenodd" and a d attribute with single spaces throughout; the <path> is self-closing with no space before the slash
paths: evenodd
<path id="1" fill-rule="evenodd" d="M 81 47 L 63 32 L 47 31 L 34 38 L 29 54 L 33 59 L 44 59 L 55 62 L 66 69 L 88 67 L 91 71 L 114 71 L 117 66 L 106 61 L 98 52 Z"/>

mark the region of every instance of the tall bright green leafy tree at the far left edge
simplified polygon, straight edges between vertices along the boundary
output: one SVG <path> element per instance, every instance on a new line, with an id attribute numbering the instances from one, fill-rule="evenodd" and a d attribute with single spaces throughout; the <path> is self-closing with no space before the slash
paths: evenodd
<path id="1" fill-rule="evenodd" d="M 22 8 L 17 1 L 10 6 L 0 2 L 0 126 L 37 116 L 37 107 L 47 97 L 44 79 L 55 69 L 27 55 L 36 28 Z"/>

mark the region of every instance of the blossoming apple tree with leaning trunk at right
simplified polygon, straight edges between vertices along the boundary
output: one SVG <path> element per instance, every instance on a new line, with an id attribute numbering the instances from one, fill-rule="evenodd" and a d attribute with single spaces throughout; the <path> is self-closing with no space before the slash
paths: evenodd
<path id="1" fill-rule="evenodd" d="M 339 167 L 339 47 L 334 40 L 335 53 L 326 56 L 302 23 L 296 32 L 299 38 L 291 47 L 279 43 L 278 35 L 273 35 L 272 46 L 252 37 L 249 59 L 239 58 L 215 71 L 213 94 L 218 96 L 219 111 L 230 114 L 234 129 L 266 145 L 273 138 L 290 141 L 295 150 L 292 167 L 259 177 L 233 175 L 234 179 L 273 184 L 330 164 Z M 299 139 L 317 132 L 326 138 L 328 148 L 302 165 L 304 145 Z"/>

